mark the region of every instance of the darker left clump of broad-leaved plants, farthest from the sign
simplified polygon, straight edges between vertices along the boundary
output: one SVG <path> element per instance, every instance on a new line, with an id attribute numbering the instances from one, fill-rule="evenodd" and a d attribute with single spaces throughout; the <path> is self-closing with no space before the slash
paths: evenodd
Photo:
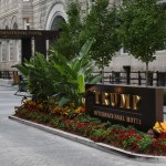
<path id="1" fill-rule="evenodd" d="M 48 101 L 54 94 L 50 63 L 44 55 L 35 53 L 34 58 L 24 64 L 19 64 L 17 69 L 28 79 L 28 90 L 35 96 L 38 102 Z"/>

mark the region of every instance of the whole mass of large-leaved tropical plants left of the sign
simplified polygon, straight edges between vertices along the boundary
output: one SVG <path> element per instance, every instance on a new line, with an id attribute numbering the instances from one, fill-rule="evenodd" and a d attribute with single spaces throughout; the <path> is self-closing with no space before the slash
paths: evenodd
<path id="1" fill-rule="evenodd" d="M 49 61 L 37 53 L 29 62 L 17 66 L 28 79 L 29 91 L 38 102 L 55 98 L 60 106 L 82 104 L 85 83 L 96 83 L 102 79 L 102 75 L 92 75 L 97 66 L 89 55 L 93 42 L 87 41 L 71 61 L 52 49 Z"/>

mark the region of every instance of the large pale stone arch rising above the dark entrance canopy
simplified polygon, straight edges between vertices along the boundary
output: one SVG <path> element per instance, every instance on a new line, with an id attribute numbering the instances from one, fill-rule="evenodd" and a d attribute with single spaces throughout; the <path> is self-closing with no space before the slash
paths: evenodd
<path id="1" fill-rule="evenodd" d="M 64 19 L 64 21 L 68 20 L 68 17 L 66 17 L 66 13 L 64 10 L 64 4 L 63 3 L 55 3 L 49 12 L 46 23 L 45 23 L 45 29 L 51 30 L 52 24 L 56 23 L 55 21 L 61 20 L 61 19 Z"/>

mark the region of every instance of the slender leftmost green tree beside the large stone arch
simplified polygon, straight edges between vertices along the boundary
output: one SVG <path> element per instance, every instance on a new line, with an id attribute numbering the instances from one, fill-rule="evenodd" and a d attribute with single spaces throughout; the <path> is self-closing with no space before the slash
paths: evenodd
<path id="1" fill-rule="evenodd" d="M 80 52 L 85 42 L 81 42 L 80 40 L 80 32 L 82 31 L 80 11 L 80 4 L 77 1 L 69 3 L 66 10 L 68 22 L 62 23 L 60 37 L 52 44 L 53 49 L 60 54 L 65 55 L 69 60 Z"/>

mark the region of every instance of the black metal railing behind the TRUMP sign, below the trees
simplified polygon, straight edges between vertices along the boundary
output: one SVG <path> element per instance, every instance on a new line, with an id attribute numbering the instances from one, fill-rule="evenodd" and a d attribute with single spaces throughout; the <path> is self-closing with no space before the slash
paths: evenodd
<path id="1" fill-rule="evenodd" d="M 102 72 L 94 72 L 98 74 Z M 118 72 L 111 71 L 104 72 L 101 83 L 105 84 L 126 84 L 126 85 L 145 85 L 146 84 L 146 72 Z M 166 86 L 166 72 L 148 72 L 147 84 L 149 86 Z"/>

